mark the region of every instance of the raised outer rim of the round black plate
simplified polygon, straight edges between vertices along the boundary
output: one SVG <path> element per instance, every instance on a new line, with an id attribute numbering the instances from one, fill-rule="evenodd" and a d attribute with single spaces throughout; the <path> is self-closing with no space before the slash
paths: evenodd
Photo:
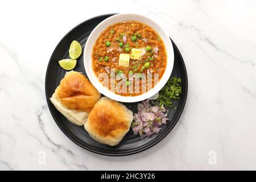
<path id="1" fill-rule="evenodd" d="M 172 126 L 170 128 L 168 128 L 168 130 L 163 134 L 161 135 L 160 137 L 158 138 L 155 138 L 155 140 L 152 140 L 152 142 L 149 142 L 145 145 L 143 145 L 141 148 L 133 148 L 132 150 L 127 150 L 127 151 L 123 151 L 123 152 L 120 152 L 118 151 L 117 153 L 115 152 L 112 152 L 112 153 L 106 153 L 106 152 L 101 152 L 101 151 L 96 151 L 94 150 L 92 147 L 88 146 L 88 145 L 85 145 L 84 143 L 81 143 L 80 140 L 77 140 L 77 138 L 72 134 L 72 133 L 69 133 L 68 131 L 65 130 L 64 127 L 61 126 L 61 124 L 57 121 L 55 115 L 53 114 L 53 110 L 50 109 L 50 101 L 49 101 L 49 93 L 48 93 L 48 90 L 47 90 L 47 78 L 49 77 L 49 67 L 50 67 L 50 64 L 51 64 L 51 60 L 53 58 L 53 55 L 55 54 L 56 52 L 56 49 L 57 47 L 59 47 L 60 43 L 63 42 L 63 40 L 66 38 L 67 35 L 69 35 L 73 30 L 75 30 L 77 27 L 81 26 L 82 24 L 86 23 L 86 22 L 89 22 L 90 20 L 94 20 L 94 19 L 97 19 L 97 18 L 103 18 L 104 16 L 112 16 L 112 15 L 115 15 L 117 13 L 111 13 L 111 14 L 102 14 L 102 15 L 98 15 L 98 16 L 94 16 L 92 18 L 89 18 L 89 19 L 86 19 L 85 21 L 77 24 L 77 26 L 73 27 L 70 31 L 67 32 L 67 34 L 65 34 L 63 36 L 63 38 L 59 41 L 59 43 L 57 44 L 57 46 L 55 47 L 55 49 L 53 50 L 52 52 L 52 55 L 49 59 L 49 62 L 48 62 L 48 65 L 47 65 L 47 70 L 46 70 L 46 77 L 45 77 L 45 80 L 44 80 L 44 89 L 45 89 L 45 93 L 46 93 L 46 101 L 47 101 L 47 106 L 48 106 L 48 109 L 52 115 L 52 118 L 53 120 L 55 121 L 55 123 L 57 124 L 57 126 L 59 127 L 59 129 L 70 139 L 72 140 L 72 142 L 76 143 L 78 146 L 80 146 L 81 148 L 84 148 L 85 150 L 88 150 L 90 152 L 93 152 L 94 154 L 100 154 L 100 155 L 105 155 L 105 156 L 126 156 L 126 155 L 133 155 L 133 154 L 138 154 L 139 152 L 142 152 L 142 151 L 145 151 L 147 150 L 148 148 L 151 148 L 153 146 L 155 146 L 157 143 L 159 143 L 163 138 L 165 138 L 170 132 L 172 129 L 174 129 L 174 127 L 176 126 L 176 123 L 179 121 L 179 118 L 181 117 L 181 114 L 183 113 L 183 110 L 184 110 L 184 107 L 185 107 L 185 102 L 187 101 L 187 93 L 188 93 L 188 75 L 187 75 L 187 69 L 185 67 L 185 63 L 184 63 L 184 60 L 183 60 L 183 57 L 179 51 L 179 49 L 177 48 L 176 44 L 172 41 L 171 39 L 171 42 L 172 42 L 172 46 L 174 47 L 174 49 L 176 49 L 176 52 L 178 54 L 178 56 L 180 57 L 180 64 L 182 65 L 183 69 L 182 70 L 182 75 L 183 77 L 185 78 L 185 90 L 183 90 L 183 100 L 181 101 L 180 103 L 180 109 L 179 111 L 177 112 L 177 114 L 175 115 L 176 117 L 174 117 L 172 119 L 172 121 L 174 121 L 174 123 L 172 124 Z M 174 51 L 175 52 L 175 51 Z"/>

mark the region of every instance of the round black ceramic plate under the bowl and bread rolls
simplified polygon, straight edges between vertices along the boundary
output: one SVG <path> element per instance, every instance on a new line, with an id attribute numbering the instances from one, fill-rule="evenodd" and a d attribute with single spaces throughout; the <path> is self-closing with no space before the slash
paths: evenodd
<path id="1" fill-rule="evenodd" d="M 160 140 L 162 140 L 164 137 L 166 137 L 168 133 L 170 133 L 170 131 L 174 128 L 177 121 L 179 120 L 180 115 L 183 111 L 187 98 L 188 79 L 183 58 L 179 52 L 179 49 L 177 49 L 174 42 L 172 42 L 174 47 L 175 61 L 174 69 L 171 76 L 181 77 L 183 93 L 181 94 L 180 100 L 174 102 L 174 105 L 177 106 L 177 108 L 171 109 L 168 114 L 168 118 L 170 119 L 170 121 L 167 122 L 167 125 L 162 125 L 162 130 L 159 134 L 152 135 L 152 137 L 150 138 L 144 138 L 142 140 L 139 135 L 133 135 L 133 131 L 130 130 L 129 133 L 126 134 L 126 136 L 117 146 L 110 147 L 108 145 L 101 144 L 93 140 L 84 130 L 83 126 L 76 126 L 69 122 L 62 114 L 59 113 L 59 111 L 57 111 L 57 109 L 55 109 L 55 106 L 52 105 L 51 101 L 49 101 L 49 97 L 51 97 L 52 94 L 55 92 L 55 89 L 60 84 L 60 80 L 64 77 L 66 72 L 60 67 L 58 60 L 69 57 L 68 49 L 69 45 L 73 40 L 77 40 L 81 44 L 82 48 L 84 48 L 86 40 L 90 32 L 92 32 L 93 28 L 96 27 L 97 24 L 99 24 L 102 20 L 112 15 L 113 14 L 101 15 L 86 20 L 85 22 L 82 22 L 81 24 L 73 28 L 70 32 L 68 32 L 67 35 L 64 36 L 62 40 L 60 40 L 59 44 L 57 44 L 57 47 L 52 53 L 51 59 L 49 60 L 49 64 L 47 67 L 46 100 L 53 119 L 63 131 L 63 133 L 67 135 L 67 137 L 73 142 L 85 148 L 86 150 L 95 152 L 97 154 L 122 156 L 131 155 L 146 150 L 147 148 L 150 148 L 156 143 L 160 142 Z M 82 72 L 86 75 L 83 56 L 80 56 L 77 60 L 75 71 Z M 133 112 L 137 113 L 138 102 L 123 104 L 125 104 L 129 109 L 133 110 Z"/>

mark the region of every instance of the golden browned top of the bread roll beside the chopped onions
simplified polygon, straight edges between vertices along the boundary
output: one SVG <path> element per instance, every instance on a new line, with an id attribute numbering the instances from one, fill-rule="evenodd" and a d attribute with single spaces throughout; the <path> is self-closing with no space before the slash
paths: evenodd
<path id="1" fill-rule="evenodd" d="M 130 127 L 130 113 L 117 101 L 101 99 L 90 111 L 88 125 L 90 130 L 101 137 L 118 137 L 123 130 Z M 133 115 L 131 114 L 131 117 Z"/>

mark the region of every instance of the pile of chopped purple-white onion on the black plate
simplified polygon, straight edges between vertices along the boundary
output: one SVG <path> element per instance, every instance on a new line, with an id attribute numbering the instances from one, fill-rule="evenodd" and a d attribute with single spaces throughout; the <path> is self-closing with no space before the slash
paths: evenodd
<path id="1" fill-rule="evenodd" d="M 151 106 L 149 100 L 144 100 L 138 104 L 138 113 L 134 114 L 131 127 L 135 135 L 142 138 L 151 137 L 161 130 L 161 125 L 166 124 L 168 110 L 163 106 Z"/>

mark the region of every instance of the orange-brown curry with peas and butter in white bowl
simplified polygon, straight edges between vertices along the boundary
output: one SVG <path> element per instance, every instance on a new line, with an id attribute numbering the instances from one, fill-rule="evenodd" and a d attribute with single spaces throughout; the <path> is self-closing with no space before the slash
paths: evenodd
<path id="1" fill-rule="evenodd" d="M 121 60 L 123 59 L 121 54 L 126 57 L 124 61 Z M 127 59 L 129 59 L 128 62 Z M 101 33 L 93 46 L 92 61 L 96 76 L 105 73 L 110 80 L 110 76 L 113 75 L 110 71 L 114 69 L 117 77 L 114 81 L 115 85 L 124 81 L 123 76 L 121 79 L 118 77 L 125 75 L 127 80 L 121 88 L 126 86 L 127 93 L 114 91 L 115 93 L 121 96 L 138 96 L 143 93 L 142 75 L 147 77 L 151 73 L 152 86 L 150 88 L 156 84 L 155 73 L 158 73 L 158 80 L 163 76 L 167 54 L 162 39 L 150 26 L 141 22 L 126 21 L 112 24 Z M 135 92 L 135 89 L 133 92 L 128 91 L 130 85 L 135 85 L 135 81 L 129 80 L 129 75 L 141 78 L 139 92 Z M 110 84 L 108 87 L 110 89 Z M 148 86 L 147 88 L 150 89 Z"/>

